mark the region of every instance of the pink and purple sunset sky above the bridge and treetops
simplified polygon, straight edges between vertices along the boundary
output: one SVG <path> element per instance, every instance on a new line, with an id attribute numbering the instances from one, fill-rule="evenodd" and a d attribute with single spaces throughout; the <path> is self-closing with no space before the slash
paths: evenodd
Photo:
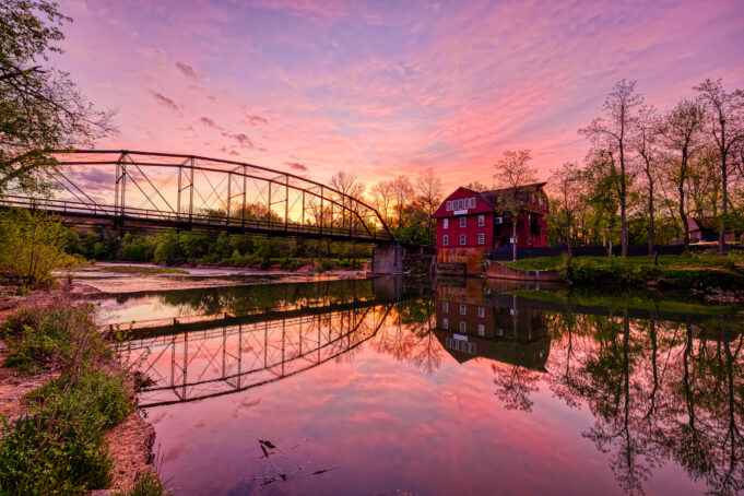
<path id="1" fill-rule="evenodd" d="M 250 162 L 373 184 L 433 168 L 493 181 L 581 161 L 611 86 L 666 109 L 706 78 L 744 87 L 742 1 L 61 1 L 55 63 L 118 107 L 97 147 Z"/>

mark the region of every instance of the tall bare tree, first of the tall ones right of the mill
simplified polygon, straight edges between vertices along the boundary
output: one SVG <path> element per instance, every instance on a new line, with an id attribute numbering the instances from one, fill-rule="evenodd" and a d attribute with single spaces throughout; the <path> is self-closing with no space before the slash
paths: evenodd
<path id="1" fill-rule="evenodd" d="M 588 137 L 597 146 L 605 149 L 619 161 L 619 203 L 621 231 L 623 248 L 621 255 L 628 255 L 627 225 L 627 147 L 628 138 L 636 123 L 634 108 L 643 102 L 642 95 L 636 93 L 636 82 L 622 80 L 617 82 L 604 102 L 604 116 L 594 119 L 588 127 L 579 129 L 579 133 Z"/>

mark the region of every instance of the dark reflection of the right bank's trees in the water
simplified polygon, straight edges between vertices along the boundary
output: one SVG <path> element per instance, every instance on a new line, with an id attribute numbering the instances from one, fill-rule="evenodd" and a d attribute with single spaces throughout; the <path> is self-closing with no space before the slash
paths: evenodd
<path id="1" fill-rule="evenodd" d="M 628 494 L 673 459 L 710 494 L 744 489 L 741 332 L 730 322 L 659 322 L 557 315 L 547 381 L 594 415 L 583 436 Z M 741 326 L 741 324 L 737 324 Z M 577 335 L 589 336 L 580 341 Z M 556 339 L 559 338 L 559 339 Z"/>

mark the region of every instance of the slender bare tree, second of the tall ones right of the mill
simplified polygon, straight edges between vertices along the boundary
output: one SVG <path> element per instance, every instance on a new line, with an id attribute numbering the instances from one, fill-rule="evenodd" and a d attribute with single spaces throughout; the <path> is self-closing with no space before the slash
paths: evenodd
<path id="1" fill-rule="evenodd" d="M 638 154 L 637 167 L 646 176 L 649 213 L 649 256 L 653 256 L 653 196 L 659 179 L 659 116 L 653 106 L 642 106 L 638 111 L 638 122 L 630 138 L 630 145 Z"/>

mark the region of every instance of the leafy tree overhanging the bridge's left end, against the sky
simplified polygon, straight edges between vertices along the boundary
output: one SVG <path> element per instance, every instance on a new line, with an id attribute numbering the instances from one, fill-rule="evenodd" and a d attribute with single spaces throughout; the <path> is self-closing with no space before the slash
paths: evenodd
<path id="1" fill-rule="evenodd" d="M 0 2 L 0 194 L 43 191 L 44 173 L 57 165 L 52 151 L 114 131 L 115 110 L 97 110 L 49 64 L 71 21 L 46 0 Z"/>

